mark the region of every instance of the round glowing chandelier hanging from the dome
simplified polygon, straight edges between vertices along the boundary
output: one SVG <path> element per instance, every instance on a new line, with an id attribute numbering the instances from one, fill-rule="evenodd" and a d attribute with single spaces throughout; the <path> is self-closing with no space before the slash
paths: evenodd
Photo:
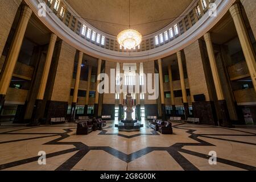
<path id="1" fill-rule="evenodd" d="M 142 35 L 138 31 L 129 28 L 117 35 L 117 42 L 127 49 L 132 49 L 141 44 Z"/>

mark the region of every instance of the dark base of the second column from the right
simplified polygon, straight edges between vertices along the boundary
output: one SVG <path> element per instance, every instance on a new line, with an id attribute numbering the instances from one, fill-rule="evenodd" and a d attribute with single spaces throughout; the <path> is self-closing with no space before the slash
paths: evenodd
<path id="1" fill-rule="evenodd" d="M 222 118 L 219 121 L 220 126 L 233 127 L 232 122 L 230 121 L 228 106 L 226 105 L 226 100 L 219 100 L 218 105 L 220 106 L 220 114 L 221 114 L 221 118 Z"/>

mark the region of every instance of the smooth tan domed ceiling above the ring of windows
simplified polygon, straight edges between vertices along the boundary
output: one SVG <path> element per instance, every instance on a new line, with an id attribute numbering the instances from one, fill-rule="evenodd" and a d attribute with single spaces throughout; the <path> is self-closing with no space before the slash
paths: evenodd
<path id="1" fill-rule="evenodd" d="M 86 22 L 110 35 L 129 27 L 129 0 L 66 0 Z M 193 0 L 130 0 L 130 24 L 152 34 L 171 23 Z"/>

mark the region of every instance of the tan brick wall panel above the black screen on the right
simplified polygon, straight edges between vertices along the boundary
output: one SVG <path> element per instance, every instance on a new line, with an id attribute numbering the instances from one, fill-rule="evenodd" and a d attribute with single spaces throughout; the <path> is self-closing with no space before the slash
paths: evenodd
<path id="1" fill-rule="evenodd" d="M 184 48 L 184 53 L 191 96 L 205 94 L 206 100 L 210 101 L 199 40 Z"/>

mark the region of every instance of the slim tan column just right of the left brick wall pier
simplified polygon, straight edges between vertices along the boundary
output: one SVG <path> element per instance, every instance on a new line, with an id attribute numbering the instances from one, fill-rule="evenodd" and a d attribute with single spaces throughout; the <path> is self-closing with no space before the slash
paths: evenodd
<path id="1" fill-rule="evenodd" d="M 72 100 L 72 105 L 71 105 L 71 121 L 75 121 L 75 116 L 76 116 L 76 103 L 77 103 L 77 95 L 78 95 L 78 91 L 79 91 L 82 56 L 84 56 L 84 53 L 79 51 L 79 60 L 78 60 L 78 63 L 77 63 L 76 80 L 75 80 L 73 100 Z"/>

